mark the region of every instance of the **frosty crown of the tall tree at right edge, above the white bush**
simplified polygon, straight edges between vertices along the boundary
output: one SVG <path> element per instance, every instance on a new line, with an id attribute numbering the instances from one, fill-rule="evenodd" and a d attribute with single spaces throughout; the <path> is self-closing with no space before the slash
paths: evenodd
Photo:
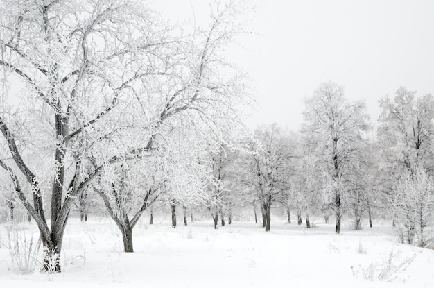
<path id="1" fill-rule="evenodd" d="M 379 117 L 378 141 L 388 164 L 413 173 L 419 165 L 431 169 L 434 98 L 430 94 L 416 97 L 415 91 L 400 87 L 394 99 L 385 96 L 379 101 L 382 108 Z"/>

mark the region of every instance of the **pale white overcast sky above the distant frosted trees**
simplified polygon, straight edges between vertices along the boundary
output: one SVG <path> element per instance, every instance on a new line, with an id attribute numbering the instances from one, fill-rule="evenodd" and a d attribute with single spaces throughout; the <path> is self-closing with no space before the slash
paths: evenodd
<path id="1" fill-rule="evenodd" d="M 208 15 L 206 0 L 156 1 L 163 15 Z M 345 86 L 365 99 L 375 122 L 377 101 L 399 86 L 434 93 L 434 1 L 268 0 L 257 3 L 252 28 L 230 58 L 254 78 L 259 108 L 249 125 L 277 122 L 297 129 L 302 99 L 320 83 Z M 193 22 L 193 20 L 191 20 Z"/>

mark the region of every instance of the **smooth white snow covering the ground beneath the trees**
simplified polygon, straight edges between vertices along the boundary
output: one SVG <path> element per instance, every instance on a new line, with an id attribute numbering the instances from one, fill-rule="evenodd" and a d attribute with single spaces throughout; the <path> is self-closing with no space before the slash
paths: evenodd
<path id="1" fill-rule="evenodd" d="M 18 229 L 37 235 L 33 225 Z M 332 224 L 307 229 L 278 219 L 271 232 L 252 222 L 218 230 L 211 222 L 139 223 L 135 252 L 123 253 L 110 219 L 70 219 L 63 272 L 48 276 L 12 271 L 3 225 L 0 287 L 434 287 L 434 251 L 398 244 L 390 224 L 333 232 Z"/>

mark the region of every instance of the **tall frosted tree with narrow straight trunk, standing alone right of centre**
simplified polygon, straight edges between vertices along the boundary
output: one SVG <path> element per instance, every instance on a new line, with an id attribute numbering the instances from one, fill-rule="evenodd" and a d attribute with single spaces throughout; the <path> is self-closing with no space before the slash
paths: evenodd
<path id="1" fill-rule="evenodd" d="M 365 103 L 351 102 L 343 87 L 333 82 L 322 83 L 311 98 L 306 99 L 302 137 L 318 157 L 326 180 L 336 217 L 336 233 L 340 233 L 342 205 L 349 191 L 349 176 L 361 162 L 360 144 L 367 129 Z"/>

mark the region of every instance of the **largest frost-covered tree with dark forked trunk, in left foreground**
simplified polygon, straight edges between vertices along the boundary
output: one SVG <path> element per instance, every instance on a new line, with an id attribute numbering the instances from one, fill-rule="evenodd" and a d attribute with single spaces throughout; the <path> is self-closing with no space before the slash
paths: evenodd
<path id="1" fill-rule="evenodd" d="M 146 160 L 173 128 L 201 121 L 219 137 L 235 120 L 245 94 L 222 58 L 233 20 L 217 4 L 186 35 L 143 1 L 1 1 L 0 166 L 40 230 L 44 269 L 60 271 L 71 206 L 107 167 Z"/>

